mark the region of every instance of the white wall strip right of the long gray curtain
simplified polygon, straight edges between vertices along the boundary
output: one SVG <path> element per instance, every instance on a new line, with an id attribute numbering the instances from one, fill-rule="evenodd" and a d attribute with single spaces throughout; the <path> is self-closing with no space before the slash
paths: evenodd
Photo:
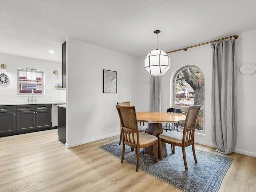
<path id="1" fill-rule="evenodd" d="M 237 58 L 237 143 L 235 151 L 256 157 L 256 73 L 243 75 L 240 66 L 256 64 L 256 30 L 239 34 L 236 40 Z"/>

